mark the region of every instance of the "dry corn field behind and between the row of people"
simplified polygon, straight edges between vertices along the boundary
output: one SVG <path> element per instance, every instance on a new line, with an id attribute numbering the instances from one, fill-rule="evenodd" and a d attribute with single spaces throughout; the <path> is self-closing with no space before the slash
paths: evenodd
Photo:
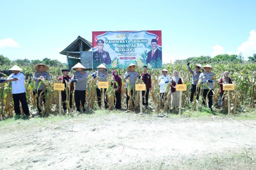
<path id="1" fill-rule="evenodd" d="M 192 63 L 198 64 L 198 63 Z M 230 78 L 233 81 L 233 84 L 235 84 L 235 91 L 231 91 L 231 111 L 232 114 L 235 115 L 238 111 L 238 108 L 255 108 L 256 105 L 256 64 L 247 62 L 247 63 L 230 63 L 230 64 L 221 64 L 221 63 L 211 63 L 210 64 L 214 70 L 212 72 L 215 73 L 216 76 L 216 82 L 214 83 L 214 96 L 213 96 L 213 105 L 218 105 L 218 97 L 219 97 L 219 85 L 218 85 L 218 79 L 222 77 L 222 74 L 224 71 L 229 71 Z M 189 101 L 190 97 L 190 87 L 191 87 L 191 81 L 192 81 L 192 75 L 190 74 L 189 70 L 187 69 L 187 66 L 185 64 L 176 63 L 176 64 L 167 64 L 163 65 L 163 68 L 166 68 L 169 73 L 170 77 L 172 77 L 172 72 L 177 70 L 179 71 L 179 76 L 182 79 L 183 84 L 187 85 L 187 91 L 183 92 L 182 95 L 182 107 L 186 110 L 201 110 L 202 108 L 202 99 L 199 98 L 199 101 L 194 99 L 192 103 Z M 1 66 L 0 70 L 8 70 L 9 66 Z M 25 87 L 26 87 L 26 97 L 27 102 L 31 109 L 36 109 L 36 97 L 33 95 L 33 89 L 35 88 L 35 82 L 32 81 L 32 75 L 34 73 L 32 67 L 26 67 L 22 68 L 23 71 L 21 71 L 25 77 Z M 192 67 L 192 69 L 194 69 Z M 140 74 L 142 73 L 142 69 L 137 70 Z M 113 86 L 111 86 L 111 83 L 115 83 L 113 81 L 113 78 L 111 76 L 111 70 L 108 70 L 109 72 L 109 88 L 107 89 L 105 93 L 105 98 L 108 99 L 109 107 L 108 109 L 112 110 L 114 109 L 114 100 L 115 100 L 115 90 Z M 164 102 L 165 106 L 163 109 L 160 108 L 160 87 L 158 85 L 158 77 L 160 76 L 160 69 L 152 69 L 148 70 L 148 72 L 151 74 L 151 86 L 152 89 L 149 93 L 149 105 L 153 108 L 155 111 L 169 111 L 171 108 L 171 91 L 169 86 L 167 87 L 167 93 L 164 96 Z M 55 82 L 58 82 L 58 77 L 61 76 L 61 68 L 50 68 L 49 70 L 50 76 L 51 76 L 51 82 L 46 82 L 47 86 L 45 90 L 47 90 L 46 94 L 46 103 L 43 106 L 40 106 L 43 109 L 43 115 L 42 116 L 48 116 L 49 114 L 57 114 L 58 113 L 58 91 L 53 90 L 53 84 Z M 90 71 L 91 73 L 91 71 Z M 123 78 L 125 74 L 124 69 L 119 69 L 118 74 L 120 77 Z M 7 77 L 9 75 L 2 74 L 3 78 Z M 70 73 L 72 75 L 72 73 Z M 87 92 L 86 92 L 86 110 L 92 111 L 99 109 L 97 105 L 97 96 L 96 96 L 96 81 L 97 79 L 93 79 L 92 76 L 87 77 Z M 129 82 L 129 79 L 126 80 L 126 82 Z M 139 84 L 143 84 L 142 79 L 137 79 L 137 82 Z M 131 88 L 128 86 L 128 95 L 131 96 Z M 70 82 L 67 82 L 66 87 L 66 93 L 67 96 L 70 93 Z M 130 98 L 129 100 L 129 107 L 131 110 L 136 110 L 140 108 L 140 93 L 134 92 L 133 98 Z M 122 80 L 122 108 L 126 108 L 126 88 L 125 88 L 125 81 Z M 73 100 L 74 101 L 74 100 Z M 71 113 L 71 109 L 69 108 L 67 99 L 67 108 L 68 113 Z M 134 106 L 132 105 L 132 102 L 134 102 Z M 74 103 L 73 103 L 74 108 Z M 224 105 L 223 105 L 224 111 L 227 111 L 227 95 L 225 96 Z M 0 84 L 0 119 L 5 119 L 13 116 L 13 101 L 12 101 L 12 88 L 11 88 L 11 82 L 10 83 L 1 83 Z"/>

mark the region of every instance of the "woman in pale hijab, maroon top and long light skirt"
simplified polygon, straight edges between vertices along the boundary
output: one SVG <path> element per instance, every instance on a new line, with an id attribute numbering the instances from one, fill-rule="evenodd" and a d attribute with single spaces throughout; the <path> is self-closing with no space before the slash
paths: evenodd
<path id="1" fill-rule="evenodd" d="M 171 91 L 172 91 L 172 99 L 171 99 L 171 106 L 174 108 L 175 106 L 180 106 L 180 93 L 176 91 L 176 85 L 182 84 L 182 80 L 179 77 L 178 71 L 173 71 L 173 77 L 172 77 L 172 83 L 171 83 Z"/>

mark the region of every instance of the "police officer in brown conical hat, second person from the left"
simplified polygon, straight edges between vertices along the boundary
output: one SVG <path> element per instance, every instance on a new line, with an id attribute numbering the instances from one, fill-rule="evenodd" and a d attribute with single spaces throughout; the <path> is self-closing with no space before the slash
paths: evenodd
<path id="1" fill-rule="evenodd" d="M 35 93 L 36 93 L 36 105 L 38 108 L 38 113 L 42 112 L 41 108 L 39 107 L 39 97 L 41 95 L 41 102 L 40 105 L 42 105 L 42 102 L 45 104 L 45 95 L 47 93 L 46 85 L 44 81 L 51 81 L 50 74 L 47 72 L 49 70 L 48 65 L 44 64 L 38 64 L 34 67 L 35 73 L 33 75 L 33 80 L 35 81 Z M 40 86 L 39 83 L 41 82 Z"/>

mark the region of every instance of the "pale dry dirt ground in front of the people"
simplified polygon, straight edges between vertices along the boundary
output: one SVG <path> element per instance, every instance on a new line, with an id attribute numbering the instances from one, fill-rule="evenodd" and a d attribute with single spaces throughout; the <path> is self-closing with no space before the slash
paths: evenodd
<path id="1" fill-rule="evenodd" d="M 16 120 L 0 134 L 0 170 L 256 170 L 256 120 L 99 112 Z"/>

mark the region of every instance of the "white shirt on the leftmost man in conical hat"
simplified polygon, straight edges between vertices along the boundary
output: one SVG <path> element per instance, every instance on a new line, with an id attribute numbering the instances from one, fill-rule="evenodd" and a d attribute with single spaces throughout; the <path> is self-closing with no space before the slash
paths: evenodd
<path id="1" fill-rule="evenodd" d="M 12 94 L 25 93 L 26 89 L 24 85 L 24 81 L 25 81 L 24 74 L 19 72 L 17 75 L 15 75 L 13 73 L 8 77 L 8 79 L 14 79 L 14 78 L 17 78 L 18 80 L 12 81 Z"/>

